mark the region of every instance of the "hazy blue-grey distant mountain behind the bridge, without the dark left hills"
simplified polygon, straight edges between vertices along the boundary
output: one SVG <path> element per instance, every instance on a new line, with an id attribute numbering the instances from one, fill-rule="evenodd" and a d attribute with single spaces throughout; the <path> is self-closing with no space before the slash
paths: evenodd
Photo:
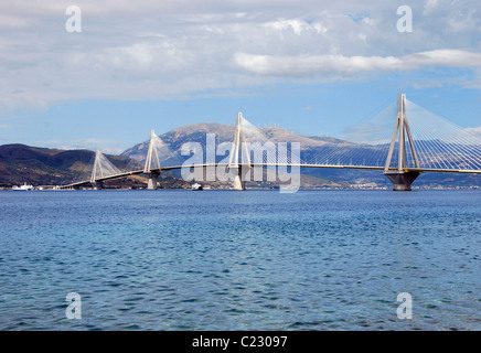
<path id="1" fill-rule="evenodd" d="M 372 156 L 375 156 L 375 153 L 372 153 L 372 146 L 353 143 L 325 136 L 300 136 L 279 127 L 265 127 L 258 128 L 258 130 L 272 142 L 299 142 L 301 146 L 301 158 L 304 161 L 313 161 L 316 156 L 346 153 L 356 156 L 357 162 L 363 162 L 367 165 L 380 162 L 378 160 L 373 160 Z M 159 137 L 167 143 L 171 153 L 180 154 L 180 149 L 185 142 L 197 142 L 205 148 L 206 133 L 215 133 L 217 143 L 231 142 L 233 141 L 235 127 L 217 122 L 193 124 L 179 127 Z M 145 162 L 148 148 L 149 141 L 145 141 L 127 149 L 120 156 Z M 353 184 L 367 188 L 392 186 L 382 171 L 303 168 L 301 173 L 301 184 L 303 188 L 346 188 Z M 424 173 L 414 184 L 414 186 L 427 188 L 471 185 L 480 186 L 481 175 Z"/>

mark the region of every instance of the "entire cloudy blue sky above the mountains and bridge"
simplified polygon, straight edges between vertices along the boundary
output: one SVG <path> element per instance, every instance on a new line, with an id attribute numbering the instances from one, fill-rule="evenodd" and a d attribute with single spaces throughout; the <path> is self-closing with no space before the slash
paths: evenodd
<path id="1" fill-rule="evenodd" d="M 339 137 L 399 93 L 481 133 L 479 0 L 0 3 L 0 145 L 120 153 L 239 110 Z"/>

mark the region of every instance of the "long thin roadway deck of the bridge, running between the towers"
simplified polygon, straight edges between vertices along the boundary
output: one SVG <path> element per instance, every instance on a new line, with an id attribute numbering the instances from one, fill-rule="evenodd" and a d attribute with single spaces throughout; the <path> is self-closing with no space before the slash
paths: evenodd
<path id="1" fill-rule="evenodd" d="M 190 165 L 174 165 L 174 167 L 164 167 L 164 168 L 160 168 L 160 169 L 151 169 L 149 172 L 145 172 L 143 169 L 142 170 L 135 170 L 135 171 L 130 171 L 130 172 L 125 172 L 125 173 L 119 173 L 119 174 L 114 174 L 114 175 L 108 175 L 108 176 L 104 176 L 104 178 L 98 178 L 95 181 L 96 182 L 103 182 L 103 181 L 107 181 L 107 180 L 113 180 L 113 179 L 119 179 L 119 178 L 125 178 L 125 176 L 130 176 L 130 175 L 139 175 L 139 174 L 148 174 L 148 173 L 160 173 L 161 171 L 165 171 L 165 170 L 175 170 L 175 169 L 185 169 L 185 168 L 207 168 L 207 167 L 228 167 L 228 163 L 204 163 L 204 164 L 190 164 Z M 300 167 L 300 168 L 330 168 L 330 169 L 357 169 L 357 170 L 380 170 L 380 171 L 384 171 L 384 167 L 373 167 L 373 165 L 335 165 L 335 164 L 288 164 L 288 163 L 239 163 L 238 167 L 244 167 L 244 165 L 248 165 L 250 168 L 254 167 Z M 231 167 L 231 168 L 238 168 L 238 167 Z M 396 172 L 398 171 L 395 168 L 389 169 L 389 171 Z M 481 170 L 458 170 L 458 169 L 423 169 L 423 168 L 408 168 L 408 169 L 404 169 L 404 172 L 434 172 L 434 173 L 467 173 L 467 174 L 481 174 Z M 67 185 L 62 185 L 61 189 L 72 189 L 72 188 L 76 188 L 76 186 L 82 186 L 82 185 L 88 185 L 90 184 L 92 181 L 90 180 L 84 180 L 84 181 L 79 181 L 79 182 L 75 182 L 75 183 L 71 183 Z"/>

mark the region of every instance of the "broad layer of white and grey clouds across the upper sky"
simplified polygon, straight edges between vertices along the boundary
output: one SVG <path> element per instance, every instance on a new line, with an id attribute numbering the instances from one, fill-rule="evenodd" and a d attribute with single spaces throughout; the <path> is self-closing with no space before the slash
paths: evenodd
<path id="1" fill-rule="evenodd" d="M 82 33 L 65 31 L 70 4 L 0 3 L 1 110 L 481 62 L 478 0 L 413 4 L 409 34 L 396 31 L 388 1 L 89 0 L 79 2 Z"/>

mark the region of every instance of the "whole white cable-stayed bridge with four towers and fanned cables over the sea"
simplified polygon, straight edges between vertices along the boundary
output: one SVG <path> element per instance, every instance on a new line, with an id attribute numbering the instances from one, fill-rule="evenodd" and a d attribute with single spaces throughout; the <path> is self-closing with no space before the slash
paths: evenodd
<path id="1" fill-rule="evenodd" d="M 215 146 L 217 151 L 225 152 L 221 156 L 210 158 L 202 152 L 201 158 L 185 159 L 152 130 L 143 169 L 120 171 L 97 151 L 90 178 L 62 189 L 87 184 L 101 189 L 107 180 L 145 174 L 148 189 L 156 190 L 162 171 L 193 168 L 233 172 L 235 190 L 245 190 L 245 181 L 250 180 L 255 168 L 378 170 L 396 191 L 409 191 L 424 172 L 481 174 L 481 137 L 415 105 L 404 94 L 370 121 L 353 127 L 345 140 L 355 142 L 319 142 L 316 148 L 297 150 L 295 141 L 274 141 L 238 113 L 233 140 Z M 215 138 L 212 142 L 215 143 Z M 199 148 L 202 149 L 196 145 L 188 150 L 195 152 Z"/>

